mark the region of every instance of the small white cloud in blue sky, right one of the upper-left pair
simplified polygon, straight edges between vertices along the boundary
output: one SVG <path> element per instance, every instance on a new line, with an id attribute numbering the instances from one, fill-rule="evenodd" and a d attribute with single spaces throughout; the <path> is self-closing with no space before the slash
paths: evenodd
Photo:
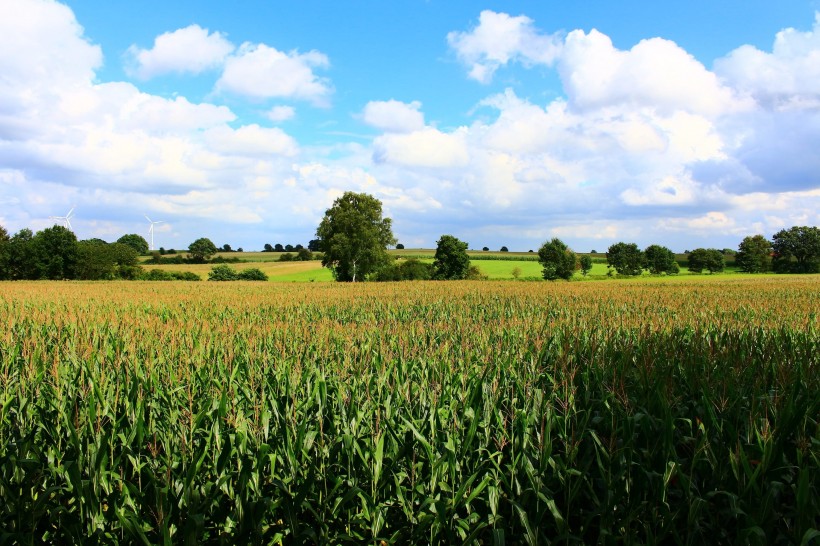
<path id="1" fill-rule="evenodd" d="M 285 53 L 265 44 L 245 43 L 225 62 L 218 90 L 254 99 L 295 98 L 325 104 L 330 84 L 314 68 L 330 61 L 318 51 Z"/>

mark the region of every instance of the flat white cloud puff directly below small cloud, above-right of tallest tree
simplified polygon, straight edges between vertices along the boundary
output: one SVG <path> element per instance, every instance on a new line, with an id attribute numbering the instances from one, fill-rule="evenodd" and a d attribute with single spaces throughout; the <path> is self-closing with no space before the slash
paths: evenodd
<path id="1" fill-rule="evenodd" d="M 459 132 L 443 133 L 432 127 L 406 134 L 388 133 L 373 144 L 376 163 L 406 167 L 460 167 L 470 159 Z"/>

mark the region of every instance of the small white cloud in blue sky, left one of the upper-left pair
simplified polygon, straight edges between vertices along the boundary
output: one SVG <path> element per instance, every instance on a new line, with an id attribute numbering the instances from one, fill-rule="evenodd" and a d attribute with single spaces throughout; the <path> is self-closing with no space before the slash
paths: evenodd
<path id="1" fill-rule="evenodd" d="M 199 74 L 221 66 L 234 49 L 222 33 L 190 25 L 157 36 L 151 49 L 132 45 L 128 71 L 144 80 L 171 72 Z"/>

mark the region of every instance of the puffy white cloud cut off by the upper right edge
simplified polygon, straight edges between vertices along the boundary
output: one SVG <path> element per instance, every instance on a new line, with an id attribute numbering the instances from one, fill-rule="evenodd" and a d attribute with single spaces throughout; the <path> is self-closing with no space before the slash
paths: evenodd
<path id="1" fill-rule="evenodd" d="M 820 12 L 808 32 L 777 33 L 771 53 L 741 46 L 715 61 L 715 72 L 729 85 L 765 106 L 820 105 Z"/>

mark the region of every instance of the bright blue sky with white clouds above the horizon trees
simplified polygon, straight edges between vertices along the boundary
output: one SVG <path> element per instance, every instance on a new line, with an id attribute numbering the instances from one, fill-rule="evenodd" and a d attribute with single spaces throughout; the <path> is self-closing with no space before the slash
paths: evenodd
<path id="1" fill-rule="evenodd" d="M 820 0 L 0 0 L 0 225 L 736 248 L 820 225 Z"/>

